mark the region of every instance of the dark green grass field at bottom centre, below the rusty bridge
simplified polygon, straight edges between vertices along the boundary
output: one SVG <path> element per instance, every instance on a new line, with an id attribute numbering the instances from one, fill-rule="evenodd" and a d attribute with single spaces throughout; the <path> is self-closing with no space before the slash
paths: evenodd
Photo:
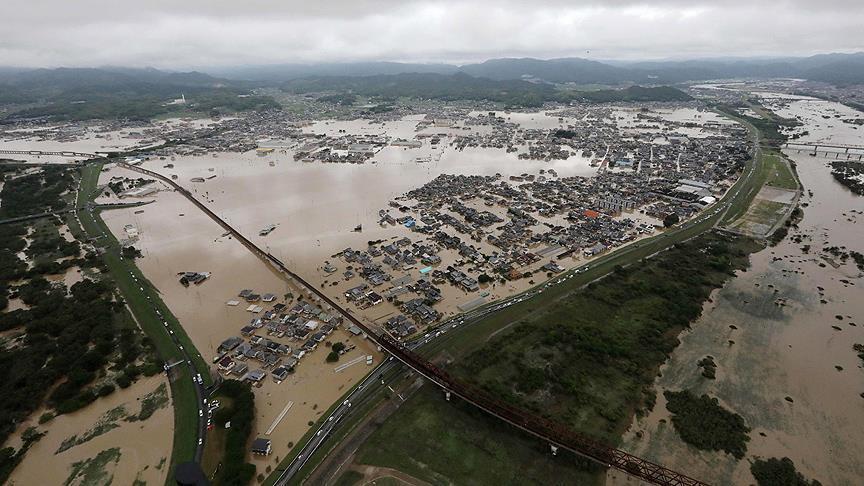
<path id="1" fill-rule="evenodd" d="M 426 385 L 361 447 L 357 462 L 432 484 L 600 484 L 597 467 L 561 454 Z M 587 471 L 586 471 L 587 469 Z"/>

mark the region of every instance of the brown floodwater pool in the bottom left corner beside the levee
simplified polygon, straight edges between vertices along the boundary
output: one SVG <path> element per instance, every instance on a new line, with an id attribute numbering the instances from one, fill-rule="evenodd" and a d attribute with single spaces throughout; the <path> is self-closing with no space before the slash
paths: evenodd
<path id="1" fill-rule="evenodd" d="M 171 460 L 174 429 L 174 414 L 170 403 L 156 410 L 146 420 L 112 420 L 116 428 L 62 452 L 56 452 L 63 441 L 73 436 L 81 438 L 88 431 L 94 430 L 100 417 L 109 410 L 123 406 L 129 415 L 139 413 L 141 397 L 163 384 L 168 386 L 164 375 L 142 378 L 125 390 L 118 388 L 113 394 L 98 399 L 83 410 L 55 417 L 45 425 L 37 424 L 43 412 L 37 411 L 28 422 L 19 426 L 19 430 L 23 431 L 32 425 L 47 434 L 33 444 L 23 461 L 12 472 L 9 484 L 64 484 L 72 473 L 74 463 L 94 458 L 100 452 L 115 447 L 119 448 L 119 459 L 116 462 L 109 461 L 104 467 L 106 476 L 102 480 L 82 483 L 79 477 L 71 484 L 133 484 L 136 479 L 146 484 L 164 483 Z M 111 477 L 113 481 L 110 480 Z"/>

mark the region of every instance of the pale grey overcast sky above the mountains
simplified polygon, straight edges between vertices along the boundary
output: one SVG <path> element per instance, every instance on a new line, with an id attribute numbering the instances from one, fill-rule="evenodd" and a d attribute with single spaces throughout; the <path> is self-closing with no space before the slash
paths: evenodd
<path id="1" fill-rule="evenodd" d="M 0 0 L 0 65 L 189 67 L 864 50 L 864 0 Z"/>

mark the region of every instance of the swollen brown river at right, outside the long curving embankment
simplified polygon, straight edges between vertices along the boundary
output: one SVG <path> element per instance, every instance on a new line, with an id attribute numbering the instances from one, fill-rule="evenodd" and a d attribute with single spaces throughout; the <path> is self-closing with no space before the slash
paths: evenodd
<path id="1" fill-rule="evenodd" d="M 771 96 L 769 106 L 804 122 L 797 130 L 809 135 L 800 141 L 862 144 L 860 132 L 841 118 L 864 114 L 837 103 L 780 98 L 793 99 Z M 654 410 L 634 422 L 623 447 L 712 484 L 753 483 L 750 461 L 784 456 L 822 484 L 861 484 L 864 369 L 852 345 L 864 343 L 864 281 L 851 259 L 843 263 L 822 249 L 864 250 L 864 198 L 834 181 L 833 159 L 786 153 L 804 186 L 799 229 L 752 255 L 751 267 L 713 294 L 661 368 Z M 703 378 L 696 364 L 708 355 L 717 364 L 715 380 Z M 684 388 L 716 396 L 744 418 L 752 429 L 744 459 L 681 442 L 662 392 Z"/>

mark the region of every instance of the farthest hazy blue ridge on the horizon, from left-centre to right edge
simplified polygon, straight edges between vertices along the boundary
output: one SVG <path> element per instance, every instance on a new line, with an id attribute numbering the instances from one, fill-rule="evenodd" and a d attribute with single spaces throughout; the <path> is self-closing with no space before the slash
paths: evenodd
<path id="1" fill-rule="evenodd" d="M 278 64 L 207 69 L 227 79 L 287 81 L 310 76 L 371 76 L 406 73 L 454 74 L 495 80 L 537 79 L 578 84 L 669 84 L 728 78 L 803 78 L 835 84 L 864 84 L 864 52 L 770 59 L 599 62 L 581 58 L 490 59 L 477 64 L 354 62 Z"/>

